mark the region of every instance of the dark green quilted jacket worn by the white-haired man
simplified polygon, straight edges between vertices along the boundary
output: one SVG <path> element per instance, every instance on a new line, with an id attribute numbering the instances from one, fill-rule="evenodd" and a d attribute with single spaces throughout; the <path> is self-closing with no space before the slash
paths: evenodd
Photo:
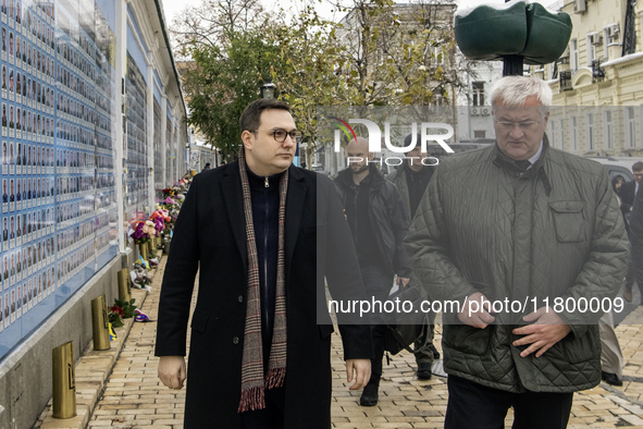
<path id="1" fill-rule="evenodd" d="M 432 299 L 474 292 L 528 303 L 477 329 L 443 316 L 444 367 L 510 392 L 574 392 L 601 381 L 603 311 L 558 315 L 571 332 L 541 357 L 511 342 L 522 317 L 556 297 L 613 298 L 627 265 L 622 217 L 603 167 L 548 147 L 523 174 L 496 145 L 444 159 L 405 240 Z"/>

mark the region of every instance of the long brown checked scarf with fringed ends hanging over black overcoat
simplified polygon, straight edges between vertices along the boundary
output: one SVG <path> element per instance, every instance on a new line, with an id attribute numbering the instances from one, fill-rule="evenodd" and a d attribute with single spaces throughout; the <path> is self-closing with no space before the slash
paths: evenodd
<path id="1" fill-rule="evenodd" d="M 279 255 L 276 267 L 276 296 L 272 346 L 268 372 L 263 376 L 263 345 L 261 341 L 261 298 L 259 284 L 259 258 L 252 222 L 250 183 L 246 172 L 245 149 L 239 151 L 239 173 L 246 218 L 246 247 L 248 253 L 248 296 L 246 299 L 246 327 L 242 363 L 242 400 L 238 413 L 265 408 L 264 389 L 281 388 L 286 377 L 286 287 L 284 262 L 284 224 L 286 219 L 286 192 L 288 170 L 280 180 Z"/>

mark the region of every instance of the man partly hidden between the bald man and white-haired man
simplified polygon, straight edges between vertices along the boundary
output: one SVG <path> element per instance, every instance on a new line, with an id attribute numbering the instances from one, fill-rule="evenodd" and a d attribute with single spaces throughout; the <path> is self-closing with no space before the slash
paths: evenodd
<path id="1" fill-rule="evenodd" d="M 404 146 L 409 147 L 412 140 L 413 135 L 407 135 L 404 139 Z M 426 162 L 422 161 L 423 159 L 428 159 L 428 154 L 422 151 L 422 136 L 420 134 L 415 136 L 415 142 L 416 146 L 406 155 L 406 162 L 396 167 L 386 177 L 397 186 L 401 196 L 401 204 L 406 212 L 410 214 L 410 219 L 413 219 L 416 216 L 420 199 L 422 199 L 431 176 L 437 167 L 437 164 L 433 163 L 437 161 L 436 159 L 429 159 Z M 415 280 L 411 279 L 410 282 L 413 283 Z M 433 321 L 435 320 L 435 314 L 431 312 L 429 316 L 431 323 L 423 328 L 422 336 L 413 344 L 416 364 L 418 365 L 416 373 L 420 380 L 429 380 L 431 378 L 433 360 L 440 359 L 440 353 L 433 345 Z"/>

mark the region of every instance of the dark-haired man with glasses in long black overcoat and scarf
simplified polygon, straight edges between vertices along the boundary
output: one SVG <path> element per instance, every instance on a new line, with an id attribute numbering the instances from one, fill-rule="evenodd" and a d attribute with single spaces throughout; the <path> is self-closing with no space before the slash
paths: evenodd
<path id="1" fill-rule="evenodd" d="M 288 106 L 257 100 L 240 123 L 239 160 L 195 176 L 176 220 L 159 305 L 159 377 L 181 389 L 187 376 L 186 428 L 330 428 L 324 277 L 334 299 L 363 299 L 355 246 L 333 183 L 292 166 L 300 133 Z M 369 327 L 338 317 L 347 379 L 361 389 Z"/>

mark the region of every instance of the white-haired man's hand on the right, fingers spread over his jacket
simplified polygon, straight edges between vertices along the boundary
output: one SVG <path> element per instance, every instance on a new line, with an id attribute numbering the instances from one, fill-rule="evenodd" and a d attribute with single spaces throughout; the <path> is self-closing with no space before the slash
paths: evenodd
<path id="1" fill-rule="evenodd" d="M 536 351 L 536 357 L 541 357 L 571 331 L 569 324 L 551 307 L 541 307 L 536 311 L 524 316 L 522 320 L 525 322 L 535 320 L 535 323 L 512 331 L 515 335 L 527 335 L 516 340 L 512 343 L 514 346 L 531 344 L 522 351 L 521 357 L 527 357 Z"/>

